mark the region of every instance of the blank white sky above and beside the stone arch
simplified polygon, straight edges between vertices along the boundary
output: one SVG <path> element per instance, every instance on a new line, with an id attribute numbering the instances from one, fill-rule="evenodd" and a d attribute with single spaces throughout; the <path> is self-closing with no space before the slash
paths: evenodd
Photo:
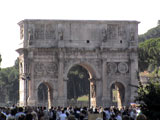
<path id="1" fill-rule="evenodd" d="M 160 0 L 1 0 L 1 67 L 18 57 L 19 26 L 23 19 L 137 20 L 139 33 L 155 27 L 160 19 Z"/>

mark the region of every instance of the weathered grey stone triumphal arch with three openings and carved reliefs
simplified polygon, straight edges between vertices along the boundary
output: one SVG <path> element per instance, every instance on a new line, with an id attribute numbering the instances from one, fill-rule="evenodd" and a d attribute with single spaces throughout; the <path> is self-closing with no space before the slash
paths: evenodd
<path id="1" fill-rule="evenodd" d="M 133 102 L 137 21 L 23 20 L 19 26 L 20 105 L 42 105 L 39 90 L 47 94 L 43 105 L 69 105 L 67 74 L 74 65 L 89 73 L 92 106 Z"/>

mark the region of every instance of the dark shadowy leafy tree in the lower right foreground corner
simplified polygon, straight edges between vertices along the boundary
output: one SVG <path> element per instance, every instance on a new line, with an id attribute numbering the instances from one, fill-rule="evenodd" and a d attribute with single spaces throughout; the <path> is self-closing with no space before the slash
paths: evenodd
<path id="1" fill-rule="evenodd" d="M 136 101 L 149 120 L 160 118 L 160 82 L 152 78 L 147 85 L 140 85 Z M 159 79 L 159 78 L 158 78 Z"/>

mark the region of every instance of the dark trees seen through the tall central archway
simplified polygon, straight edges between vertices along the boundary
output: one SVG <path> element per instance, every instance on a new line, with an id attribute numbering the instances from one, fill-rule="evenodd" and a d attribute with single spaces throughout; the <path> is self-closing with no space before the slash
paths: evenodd
<path id="1" fill-rule="evenodd" d="M 89 74 L 88 71 L 80 65 L 73 66 L 68 73 L 67 97 L 68 99 L 77 99 L 80 96 L 89 93 Z"/>

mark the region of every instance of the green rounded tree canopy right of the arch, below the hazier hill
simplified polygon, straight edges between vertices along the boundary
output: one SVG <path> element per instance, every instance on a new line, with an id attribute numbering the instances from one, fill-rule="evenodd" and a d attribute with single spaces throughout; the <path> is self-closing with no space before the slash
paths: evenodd
<path id="1" fill-rule="evenodd" d="M 140 71 L 154 70 L 160 66 L 160 38 L 152 38 L 139 44 Z"/>

